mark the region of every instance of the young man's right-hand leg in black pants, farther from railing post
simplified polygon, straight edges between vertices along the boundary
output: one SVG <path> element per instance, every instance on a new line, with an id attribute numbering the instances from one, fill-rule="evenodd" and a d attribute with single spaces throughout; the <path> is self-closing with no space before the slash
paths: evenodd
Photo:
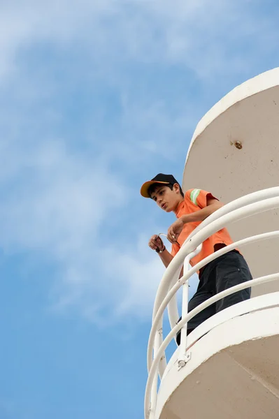
<path id="1" fill-rule="evenodd" d="M 242 284 L 252 279 L 249 267 L 243 256 L 231 251 L 220 258 L 220 262 L 215 267 L 216 293 L 227 290 L 231 286 Z M 251 288 L 228 295 L 220 301 L 216 302 L 216 312 L 238 302 L 248 300 L 251 295 Z"/>

